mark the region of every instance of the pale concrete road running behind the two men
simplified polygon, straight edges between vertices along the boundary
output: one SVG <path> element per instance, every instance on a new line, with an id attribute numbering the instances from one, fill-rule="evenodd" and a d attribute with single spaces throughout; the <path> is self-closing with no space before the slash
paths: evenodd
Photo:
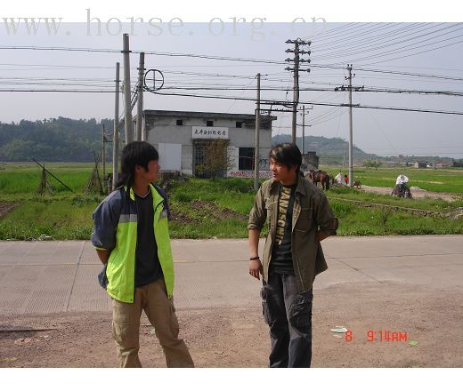
<path id="1" fill-rule="evenodd" d="M 463 290 L 463 235 L 332 237 L 323 249 L 329 270 L 315 291 L 364 282 Z M 173 251 L 177 308 L 256 307 L 246 240 L 174 240 Z M 89 242 L 0 242 L 0 315 L 110 311 L 100 269 Z"/>

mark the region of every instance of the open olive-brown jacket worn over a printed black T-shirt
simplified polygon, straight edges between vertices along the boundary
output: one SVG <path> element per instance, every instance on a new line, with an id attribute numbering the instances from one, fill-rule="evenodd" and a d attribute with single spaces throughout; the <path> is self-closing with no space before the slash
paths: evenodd
<path id="1" fill-rule="evenodd" d="M 319 229 L 329 235 L 336 235 L 338 226 L 328 199 L 323 192 L 302 176 L 297 177 L 296 195 L 293 208 L 291 251 L 297 288 L 300 293 L 312 288 L 315 275 L 328 266 L 318 241 Z M 254 206 L 249 213 L 248 229 L 262 230 L 268 219 L 269 233 L 265 240 L 264 281 L 268 281 L 269 265 L 275 243 L 278 220 L 279 182 L 266 180 L 257 191 Z"/>

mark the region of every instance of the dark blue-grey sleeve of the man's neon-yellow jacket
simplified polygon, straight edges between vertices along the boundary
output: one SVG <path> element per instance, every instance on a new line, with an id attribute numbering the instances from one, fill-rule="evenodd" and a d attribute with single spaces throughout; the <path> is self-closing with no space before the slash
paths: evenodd
<path id="1" fill-rule="evenodd" d="M 93 231 L 91 241 L 97 250 L 112 250 L 116 247 L 116 229 L 119 216 L 114 212 L 114 205 L 105 199 L 93 211 Z"/>

